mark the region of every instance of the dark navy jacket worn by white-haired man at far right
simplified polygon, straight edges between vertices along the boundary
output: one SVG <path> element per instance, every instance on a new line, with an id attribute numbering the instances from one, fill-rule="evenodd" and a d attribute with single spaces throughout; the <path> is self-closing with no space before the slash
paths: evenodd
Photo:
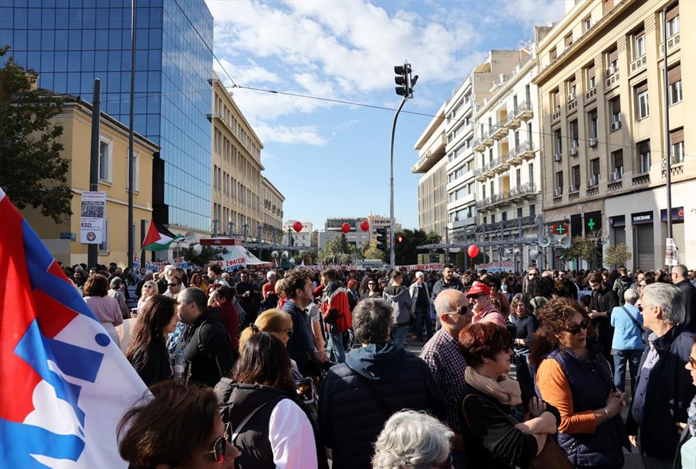
<path id="1" fill-rule="evenodd" d="M 693 332 L 687 331 L 681 324 L 654 341 L 659 359 L 650 371 L 645 399 L 635 397 L 626 420 L 626 433 L 638 435 L 640 450 L 648 456 L 674 459 L 680 436 L 677 422 L 686 422 L 687 409 L 696 393 L 691 375 L 684 368 L 693 342 Z M 648 353 L 649 348 L 646 348 L 640 359 L 636 381 L 640 381 Z M 641 425 L 633 418 L 634 406 L 643 408 Z"/>

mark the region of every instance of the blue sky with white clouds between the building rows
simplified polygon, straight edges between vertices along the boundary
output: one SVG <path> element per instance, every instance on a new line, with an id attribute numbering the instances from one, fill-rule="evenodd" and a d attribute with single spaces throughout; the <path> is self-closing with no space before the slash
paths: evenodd
<path id="1" fill-rule="evenodd" d="M 420 77 L 404 110 L 433 114 L 489 49 L 516 49 L 534 24 L 562 17 L 563 0 L 206 0 L 221 79 L 253 88 L 396 108 L 393 66 Z M 285 195 L 285 220 L 389 215 L 393 112 L 244 89 L 235 101 L 260 136 L 264 174 Z M 430 117 L 400 115 L 395 216 L 418 227 L 413 149 Z"/>

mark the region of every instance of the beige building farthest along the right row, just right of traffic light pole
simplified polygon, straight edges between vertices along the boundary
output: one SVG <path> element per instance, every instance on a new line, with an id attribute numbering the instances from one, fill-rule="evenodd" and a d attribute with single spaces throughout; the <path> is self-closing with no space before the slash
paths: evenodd
<path id="1" fill-rule="evenodd" d="M 413 174 L 423 174 L 418 180 L 418 227 L 426 233 L 445 236 L 447 228 L 447 160 L 445 159 L 445 106 L 438 109 L 425 131 L 416 141 L 418 161 Z"/>

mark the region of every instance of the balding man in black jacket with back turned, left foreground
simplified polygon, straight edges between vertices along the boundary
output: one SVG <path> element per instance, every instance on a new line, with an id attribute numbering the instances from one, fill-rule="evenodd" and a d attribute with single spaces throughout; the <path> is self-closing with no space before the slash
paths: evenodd
<path id="1" fill-rule="evenodd" d="M 196 287 L 182 290 L 176 299 L 181 322 L 188 324 L 182 335 L 184 359 L 193 381 L 215 386 L 235 364 L 230 334 L 215 309 L 207 308 L 207 297 Z"/>

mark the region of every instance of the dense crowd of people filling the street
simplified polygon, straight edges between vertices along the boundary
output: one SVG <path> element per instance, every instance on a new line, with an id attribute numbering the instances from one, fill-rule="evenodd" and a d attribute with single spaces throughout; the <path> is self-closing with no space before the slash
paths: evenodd
<path id="1" fill-rule="evenodd" d="M 154 396 L 132 468 L 696 467 L 683 265 L 65 272 Z"/>

